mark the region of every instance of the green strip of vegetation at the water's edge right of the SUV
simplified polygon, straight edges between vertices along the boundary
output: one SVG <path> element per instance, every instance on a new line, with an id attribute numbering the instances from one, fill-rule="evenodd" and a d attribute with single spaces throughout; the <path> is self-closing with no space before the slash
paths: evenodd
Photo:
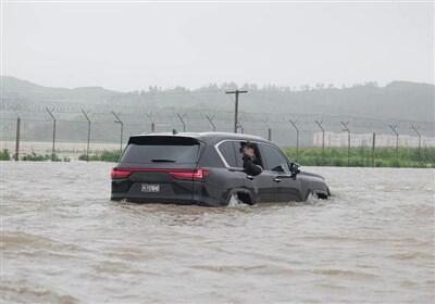
<path id="1" fill-rule="evenodd" d="M 290 160 L 304 166 L 435 167 L 435 148 L 285 148 Z"/>

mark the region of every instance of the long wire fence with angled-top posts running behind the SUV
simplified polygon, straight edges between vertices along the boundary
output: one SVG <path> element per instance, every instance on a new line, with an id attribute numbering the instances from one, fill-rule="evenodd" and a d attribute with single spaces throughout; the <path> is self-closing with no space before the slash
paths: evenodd
<path id="1" fill-rule="evenodd" d="M 177 131 L 233 131 L 234 112 L 210 109 L 76 106 L 2 111 L 2 149 L 13 154 L 57 153 L 73 159 L 122 150 L 130 135 Z M 250 113 L 238 115 L 238 132 L 268 138 L 281 147 L 435 147 L 435 125 L 368 117 Z"/>

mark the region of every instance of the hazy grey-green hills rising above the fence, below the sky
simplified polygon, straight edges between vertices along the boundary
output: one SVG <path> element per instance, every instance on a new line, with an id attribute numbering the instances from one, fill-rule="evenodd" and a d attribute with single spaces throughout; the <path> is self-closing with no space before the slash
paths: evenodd
<path id="1" fill-rule="evenodd" d="M 14 102 L 32 103 L 34 101 L 62 101 L 91 105 L 109 103 L 111 106 L 150 106 L 209 109 L 232 111 L 234 103 L 225 90 L 235 88 L 233 83 L 210 85 L 189 90 L 177 87 L 162 90 L 150 87 L 135 92 L 116 92 L 100 87 L 76 89 L 48 88 L 2 76 L 4 99 Z M 349 88 L 334 88 L 318 85 L 314 88 L 303 86 L 259 88 L 256 85 L 244 85 L 249 93 L 240 98 L 240 110 L 263 113 L 304 113 L 366 116 L 377 118 L 397 118 L 420 122 L 434 122 L 435 86 L 407 81 L 394 81 L 385 87 L 375 83 L 356 85 Z"/>

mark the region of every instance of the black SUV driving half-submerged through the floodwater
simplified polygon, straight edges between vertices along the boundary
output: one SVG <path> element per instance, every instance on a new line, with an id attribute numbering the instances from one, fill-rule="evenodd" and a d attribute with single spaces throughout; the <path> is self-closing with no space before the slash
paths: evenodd
<path id="1" fill-rule="evenodd" d="M 263 168 L 258 176 L 243 167 L 247 142 Z M 112 200 L 145 203 L 223 206 L 234 199 L 254 204 L 330 195 L 323 177 L 300 172 L 271 141 L 243 134 L 133 136 L 111 176 Z"/>

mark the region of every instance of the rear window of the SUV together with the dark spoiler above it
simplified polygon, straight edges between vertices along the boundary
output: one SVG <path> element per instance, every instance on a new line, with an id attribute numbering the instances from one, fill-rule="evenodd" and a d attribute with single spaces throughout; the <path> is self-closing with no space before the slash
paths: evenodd
<path id="1" fill-rule="evenodd" d="M 130 138 L 121 159 L 122 163 L 194 164 L 198 161 L 199 142 L 179 137 Z"/>

